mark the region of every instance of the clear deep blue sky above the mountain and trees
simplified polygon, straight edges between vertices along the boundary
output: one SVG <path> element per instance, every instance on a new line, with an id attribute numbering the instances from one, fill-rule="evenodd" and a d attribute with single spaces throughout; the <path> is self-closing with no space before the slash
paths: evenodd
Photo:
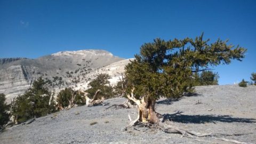
<path id="1" fill-rule="evenodd" d="M 196 37 L 248 49 L 243 62 L 218 66 L 219 84 L 256 72 L 256 1 L 3 1 L 0 58 L 103 49 L 132 58 L 141 44 Z"/>

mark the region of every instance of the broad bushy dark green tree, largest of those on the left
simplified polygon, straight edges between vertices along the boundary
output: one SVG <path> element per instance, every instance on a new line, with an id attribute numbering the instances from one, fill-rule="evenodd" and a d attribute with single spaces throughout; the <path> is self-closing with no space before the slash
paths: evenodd
<path id="1" fill-rule="evenodd" d="M 50 114 L 55 110 L 54 103 L 50 102 L 51 96 L 44 80 L 39 77 L 24 94 L 13 99 L 11 114 L 18 123 Z"/>

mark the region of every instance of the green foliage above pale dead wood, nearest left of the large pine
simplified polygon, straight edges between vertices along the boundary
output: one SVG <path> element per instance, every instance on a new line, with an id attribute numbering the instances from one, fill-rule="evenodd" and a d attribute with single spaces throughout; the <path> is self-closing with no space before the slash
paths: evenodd
<path id="1" fill-rule="evenodd" d="M 108 79 L 110 76 L 108 74 L 98 74 L 95 79 L 93 79 L 89 84 L 89 89 L 86 90 L 89 98 L 93 98 L 93 95 L 97 90 L 100 90 L 98 97 L 104 97 L 105 99 L 114 96 L 113 87 L 110 86 Z M 99 99 L 98 98 L 98 99 Z"/>

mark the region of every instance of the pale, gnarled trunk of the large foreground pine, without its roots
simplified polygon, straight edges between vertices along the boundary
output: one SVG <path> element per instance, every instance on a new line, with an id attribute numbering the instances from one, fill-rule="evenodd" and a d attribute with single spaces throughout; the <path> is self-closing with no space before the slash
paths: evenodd
<path id="1" fill-rule="evenodd" d="M 127 98 L 132 100 L 138 106 L 138 121 L 143 123 L 157 124 L 161 115 L 155 111 L 156 100 L 142 97 L 141 100 L 136 99 L 133 94 L 134 87 L 131 94 L 127 94 Z M 132 124 L 133 125 L 133 124 Z"/>

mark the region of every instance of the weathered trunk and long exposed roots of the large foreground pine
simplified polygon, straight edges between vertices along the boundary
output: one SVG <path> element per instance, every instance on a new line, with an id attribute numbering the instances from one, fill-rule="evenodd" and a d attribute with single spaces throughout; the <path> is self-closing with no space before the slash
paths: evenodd
<path id="1" fill-rule="evenodd" d="M 138 117 L 132 121 L 130 114 L 129 119 L 130 119 L 130 124 L 126 126 L 124 129 L 127 131 L 127 129 L 130 129 L 133 127 L 148 127 L 148 129 L 155 129 L 155 130 L 161 130 L 165 133 L 178 133 L 181 134 L 182 137 L 187 137 L 187 138 L 192 138 L 195 140 L 195 138 L 198 137 L 212 137 L 215 138 L 215 136 L 231 136 L 231 135 L 244 135 L 248 133 L 239 133 L 239 134 L 223 134 L 223 133 L 217 133 L 217 134 L 212 134 L 212 133 L 198 133 L 195 131 L 190 131 L 183 129 L 181 127 L 174 126 L 173 124 L 168 124 L 170 122 L 170 119 L 172 115 L 161 115 L 155 111 L 155 100 L 150 99 L 148 97 L 141 97 L 141 99 L 137 99 L 134 97 L 134 90 L 135 87 L 132 88 L 131 94 L 127 94 L 127 98 L 138 106 Z M 176 114 L 182 113 L 181 111 L 178 111 Z M 175 115 L 175 114 L 174 114 Z M 148 130 L 147 129 L 147 130 Z M 138 131 L 138 129 L 136 129 Z M 223 141 L 229 141 L 229 142 L 234 142 L 234 143 L 242 143 L 242 144 L 249 144 L 247 142 L 240 142 L 237 140 L 229 140 L 225 138 L 215 138 Z M 197 141 L 203 141 L 196 139 Z M 211 141 L 205 141 L 205 142 L 211 142 Z"/>

